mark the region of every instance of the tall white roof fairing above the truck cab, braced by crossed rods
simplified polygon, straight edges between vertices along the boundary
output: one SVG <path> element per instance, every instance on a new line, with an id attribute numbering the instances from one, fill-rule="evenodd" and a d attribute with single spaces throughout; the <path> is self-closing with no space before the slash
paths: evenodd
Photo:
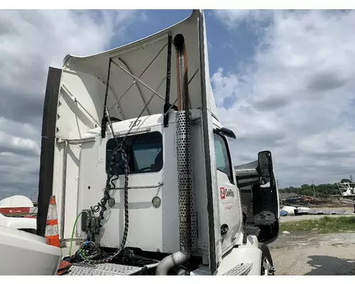
<path id="1" fill-rule="evenodd" d="M 104 51 L 89 56 L 77 56 L 67 55 L 63 61 L 62 69 L 67 72 L 74 72 L 77 76 L 82 77 L 84 82 L 84 75 L 92 75 L 92 80 L 101 81 L 99 84 L 106 84 L 109 69 L 110 58 L 117 64 L 121 65 L 126 71 L 130 72 L 134 77 L 138 77 L 151 60 L 162 50 L 160 55 L 151 63 L 146 72 L 141 75 L 139 80 L 144 84 L 151 87 L 156 91 L 156 88 L 160 85 L 158 93 L 161 97 L 165 98 L 165 77 L 166 77 L 166 65 L 167 65 L 167 43 L 168 34 L 173 35 L 173 38 L 178 33 L 182 33 L 185 37 L 185 43 L 187 48 L 187 64 L 188 64 L 188 77 L 191 80 L 189 84 L 189 96 L 190 96 L 190 109 L 199 109 L 201 106 L 201 90 L 200 90 L 200 56 L 198 48 L 198 18 L 204 17 L 204 14 L 200 10 L 194 10 L 190 17 L 185 20 L 176 23 L 169 28 L 165 28 L 158 33 L 149 35 L 141 40 L 136 40 L 133 43 L 123 45 L 119 48 Z M 206 33 L 204 27 L 204 33 Z M 205 46 L 207 46 L 207 38 L 204 35 Z M 165 48 L 164 48 L 165 46 Z M 217 119 L 217 107 L 214 101 L 211 82 L 209 80 L 209 61 L 207 48 L 204 52 L 204 73 L 205 84 L 207 92 L 207 109 Z M 170 104 L 175 102 L 177 98 L 177 73 L 176 73 L 176 54 L 175 48 L 172 48 L 171 55 L 171 80 L 170 80 Z M 192 77 L 193 76 L 193 77 Z M 109 78 L 109 95 L 107 107 L 111 108 L 113 102 L 116 102 L 121 94 L 123 94 L 129 85 L 133 82 L 133 77 L 120 70 L 119 67 L 114 64 L 111 65 L 111 74 Z M 62 84 L 66 84 L 65 80 L 62 80 Z M 92 93 L 92 90 L 88 87 L 88 84 L 84 82 L 87 87 L 87 91 Z M 97 88 L 95 88 L 97 89 Z M 153 92 L 151 89 L 143 86 L 140 82 L 133 84 L 124 97 L 119 99 L 119 104 L 116 104 L 109 111 L 110 116 L 115 116 L 119 119 L 132 119 L 137 117 L 146 102 L 150 99 Z M 92 101 L 102 102 L 103 99 L 95 99 L 94 96 L 104 97 L 102 94 L 95 93 L 89 94 Z M 143 116 L 150 114 L 161 114 L 163 112 L 164 100 L 155 95 L 149 103 L 146 111 L 143 112 Z M 95 105 L 97 114 L 97 120 L 101 121 L 103 104 Z"/>

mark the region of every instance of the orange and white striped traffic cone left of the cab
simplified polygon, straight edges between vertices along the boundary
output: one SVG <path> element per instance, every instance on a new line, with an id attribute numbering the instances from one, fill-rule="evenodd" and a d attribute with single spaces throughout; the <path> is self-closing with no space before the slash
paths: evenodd
<path id="1" fill-rule="evenodd" d="M 57 246 L 60 248 L 57 204 L 55 203 L 54 195 L 52 195 L 49 200 L 47 224 L 45 226 L 45 239 L 47 239 L 47 244 L 50 246 Z"/>

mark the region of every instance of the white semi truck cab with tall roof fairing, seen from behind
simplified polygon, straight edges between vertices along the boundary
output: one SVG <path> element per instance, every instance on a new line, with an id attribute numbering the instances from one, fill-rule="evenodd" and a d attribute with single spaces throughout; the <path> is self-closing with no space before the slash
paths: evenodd
<path id="1" fill-rule="evenodd" d="M 67 55 L 48 72 L 37 234 L 55 195 L 62 246 L 73 228 L 80 244 L 70 275 L 84 273 L 76 263 L 117 275 L 272 274 L 267 246 L 245 229 L 228 138 L 202 11 L 114 50 Z M 270 190 L 271 155 L 262 161 Z"/>

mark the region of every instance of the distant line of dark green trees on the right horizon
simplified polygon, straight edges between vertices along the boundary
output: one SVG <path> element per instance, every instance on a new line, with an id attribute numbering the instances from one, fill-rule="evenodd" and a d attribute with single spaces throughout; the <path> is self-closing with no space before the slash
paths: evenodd
<path id="1" fill-rule="evenodd" d="M 352 182 L 349 179 L 343 178 L 340 182 Z M 324 183 L 320 185 L 301 185 L 301 187 L 285 187 L 279 189 L 282 193 L 296 193 L 297 195 L 307 195 L 317 198 L 331 198 L 332 195 L 340 195 L 337 183 Z"/>

